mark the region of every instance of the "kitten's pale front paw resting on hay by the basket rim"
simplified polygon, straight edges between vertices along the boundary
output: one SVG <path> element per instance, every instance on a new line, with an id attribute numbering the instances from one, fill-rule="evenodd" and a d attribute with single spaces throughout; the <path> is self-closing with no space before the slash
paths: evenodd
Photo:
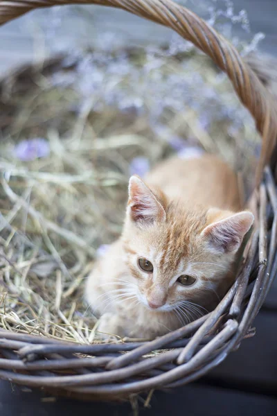
<path id="1" fill-rule="evenodd" d="M 125 336 L 124 322 L 119 315 L 105 313 L 101 316 L 97 328 L 97 338 L 118 340 Z"/>

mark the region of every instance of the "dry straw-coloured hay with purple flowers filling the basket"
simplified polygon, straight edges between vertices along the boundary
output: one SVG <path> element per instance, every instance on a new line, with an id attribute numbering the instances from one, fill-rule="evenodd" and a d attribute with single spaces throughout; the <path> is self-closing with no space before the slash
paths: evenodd
<path id="1" fill-rule="evenodd" d="M 254 125 L 194 49 L 59 57 L 0 94 L 0 327 L 97 342 L 84 280 L 120 234 L 129 175 L 197 144 L 251 177 Z"/>

